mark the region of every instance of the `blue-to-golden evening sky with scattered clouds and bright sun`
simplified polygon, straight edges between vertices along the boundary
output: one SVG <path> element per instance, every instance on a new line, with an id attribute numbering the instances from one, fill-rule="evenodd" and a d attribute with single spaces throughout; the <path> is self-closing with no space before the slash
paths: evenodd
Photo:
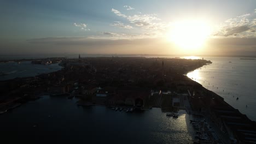
<path id="1" fill-rule="evenodd" d="M 0 1 L 0 55 L 256 56 L 256 1 Z"/>

